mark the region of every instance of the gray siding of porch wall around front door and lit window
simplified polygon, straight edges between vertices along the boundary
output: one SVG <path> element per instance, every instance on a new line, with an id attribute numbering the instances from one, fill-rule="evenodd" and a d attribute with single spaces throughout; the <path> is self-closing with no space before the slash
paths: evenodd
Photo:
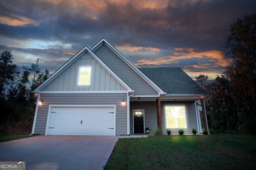
<path id="1" fill-rule="evenodd" d="M 186 126 L 184 128 L 185 134 L 192 134 L 192 128 L 198 127 L 196 120 L 196 108 L 194 101 L 161 101 L 161 126 L 163 134 L 166 133 L 166 121 L 165 121 L 165 106 L 167 105 L 184 105 L 186 110 Z M 130 107 L 130 132 L 133 133 L 133 110 L 144 110 L 144 123 L 145 128 L 150 128 L 150 134 L 154 134 L 154 131 L 158 129 L 158 118 L 156 113 L 156 101 L 131 101 Z M 171 129 L 172 134 L 179 134 L 179 129 Z"/>

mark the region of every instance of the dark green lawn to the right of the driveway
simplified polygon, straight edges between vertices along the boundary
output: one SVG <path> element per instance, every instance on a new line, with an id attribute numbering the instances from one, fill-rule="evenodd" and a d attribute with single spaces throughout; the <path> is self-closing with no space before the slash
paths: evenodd
<path id="1" fill-rule="evenodd" d="M 104 169 L 256 169 L 256 136 L 119 139 Z"/>

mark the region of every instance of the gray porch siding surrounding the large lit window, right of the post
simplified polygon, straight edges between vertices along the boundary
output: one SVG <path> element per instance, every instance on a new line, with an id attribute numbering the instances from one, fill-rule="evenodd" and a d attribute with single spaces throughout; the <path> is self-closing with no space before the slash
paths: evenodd
<path id="1" fill-rule="evenodd" d="M 184 105 L 186 112 L 186 128 L 171 128 L 172 134 L 179 134 L 179 129 L 184 129 L 185 134 L 192 134 L 192 128 L 198 129 L 198 123 L 196 120 L 196 107 L 194 101 L 162 101 L 161 102 L 161 123 L 163 133 L 166 134 L 166 120 L 165 120 L 165 106 L 167 105 Z"/>

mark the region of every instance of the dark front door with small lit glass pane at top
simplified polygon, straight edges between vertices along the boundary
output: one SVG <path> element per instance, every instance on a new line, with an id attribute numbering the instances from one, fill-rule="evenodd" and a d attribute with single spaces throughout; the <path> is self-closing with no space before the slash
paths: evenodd
<path id="1" fill-rule="evenodd" d="M 144 133 L 144 112 L 133 110 L 134 133 Z"/>

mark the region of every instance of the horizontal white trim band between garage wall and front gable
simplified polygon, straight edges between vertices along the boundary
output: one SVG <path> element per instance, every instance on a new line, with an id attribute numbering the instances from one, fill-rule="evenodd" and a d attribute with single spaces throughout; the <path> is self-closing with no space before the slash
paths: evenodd
<path id="1" fill-rule="evenodd" d="M 49 93 L 127 93 L 127 91 L 40 91 L 41 94 Z"/>

